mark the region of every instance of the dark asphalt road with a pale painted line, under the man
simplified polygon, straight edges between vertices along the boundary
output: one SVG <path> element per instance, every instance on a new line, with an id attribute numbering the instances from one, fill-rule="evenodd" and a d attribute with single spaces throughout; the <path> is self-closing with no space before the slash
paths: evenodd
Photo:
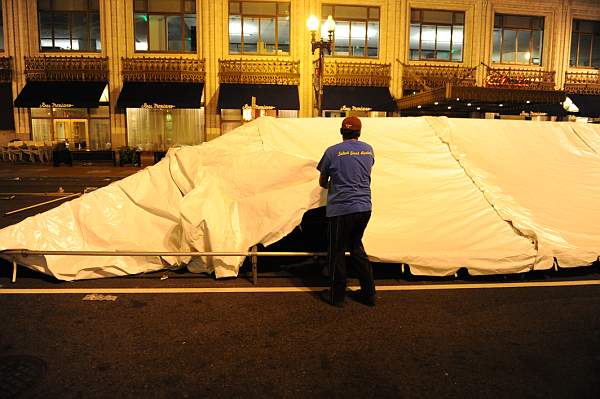
<path id="1" fill-rule="evenodd" d="M 114 180 L 9 179 L 0 191 Z M 0 211 L 39 201 L 0 200 Z M 258 291 L 274 292 L 235 292 L 253 289 L 247 265 L 237 279 L 73 283 L 20 268 L 16 284 L 10 266 L 0 262 L 0 398 L 600 397 L 597 265 L 435 279 L 377 264 L 377 307 L 343 309 L 319 300 L 327 280 L 311 259 L 261 261 Z"/>

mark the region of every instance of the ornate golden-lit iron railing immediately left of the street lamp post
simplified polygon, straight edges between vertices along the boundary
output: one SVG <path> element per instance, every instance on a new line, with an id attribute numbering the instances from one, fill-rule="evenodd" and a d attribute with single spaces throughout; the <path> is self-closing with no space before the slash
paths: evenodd
<path id="1" fill-rule="evenodd" d="M 300 61 L 219 60 L 220 83 L 299 85 Z"/>

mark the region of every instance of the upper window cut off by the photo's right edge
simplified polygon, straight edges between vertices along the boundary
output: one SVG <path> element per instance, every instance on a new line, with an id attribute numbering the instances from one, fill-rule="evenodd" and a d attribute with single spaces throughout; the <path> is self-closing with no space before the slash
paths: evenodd
<path id="1" fill-rule="evenodd" d="M 600 22 L 573 20 L 569 65 L 600 68 Z"/>

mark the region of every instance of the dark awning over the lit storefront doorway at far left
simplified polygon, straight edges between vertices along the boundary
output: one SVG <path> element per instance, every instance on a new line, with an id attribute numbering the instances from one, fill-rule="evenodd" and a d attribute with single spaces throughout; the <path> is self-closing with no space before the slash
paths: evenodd
<path id="1" fill-rule="evenodd" d="M 38 82 L 30 81 L 15 99 L 15 107 L 94 108 L 107 82 Z"/>

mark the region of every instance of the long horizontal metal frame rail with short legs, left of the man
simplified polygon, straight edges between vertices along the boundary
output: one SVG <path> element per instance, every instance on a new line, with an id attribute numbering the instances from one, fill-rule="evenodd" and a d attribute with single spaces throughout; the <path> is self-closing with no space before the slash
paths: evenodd
<path id="1" fill-rule="evenodd" d="M 73 256 L 250 256 L 252 263 L 252 284 L 258 282 L 259 256 L 327 256 L 327 252 L 269 252 L 258 251 L 256 245 L 246 252 L 144 252 L 144 251 L 36 251 L 29 249 L 6 249 L 0 255 L 12 255 L 12 282 L 17 281 L 17 260 L 15 256 L 27 257 L 34 255 L 73 255 Z M 346 255 L 349 255 L 346 252 Z"/>

